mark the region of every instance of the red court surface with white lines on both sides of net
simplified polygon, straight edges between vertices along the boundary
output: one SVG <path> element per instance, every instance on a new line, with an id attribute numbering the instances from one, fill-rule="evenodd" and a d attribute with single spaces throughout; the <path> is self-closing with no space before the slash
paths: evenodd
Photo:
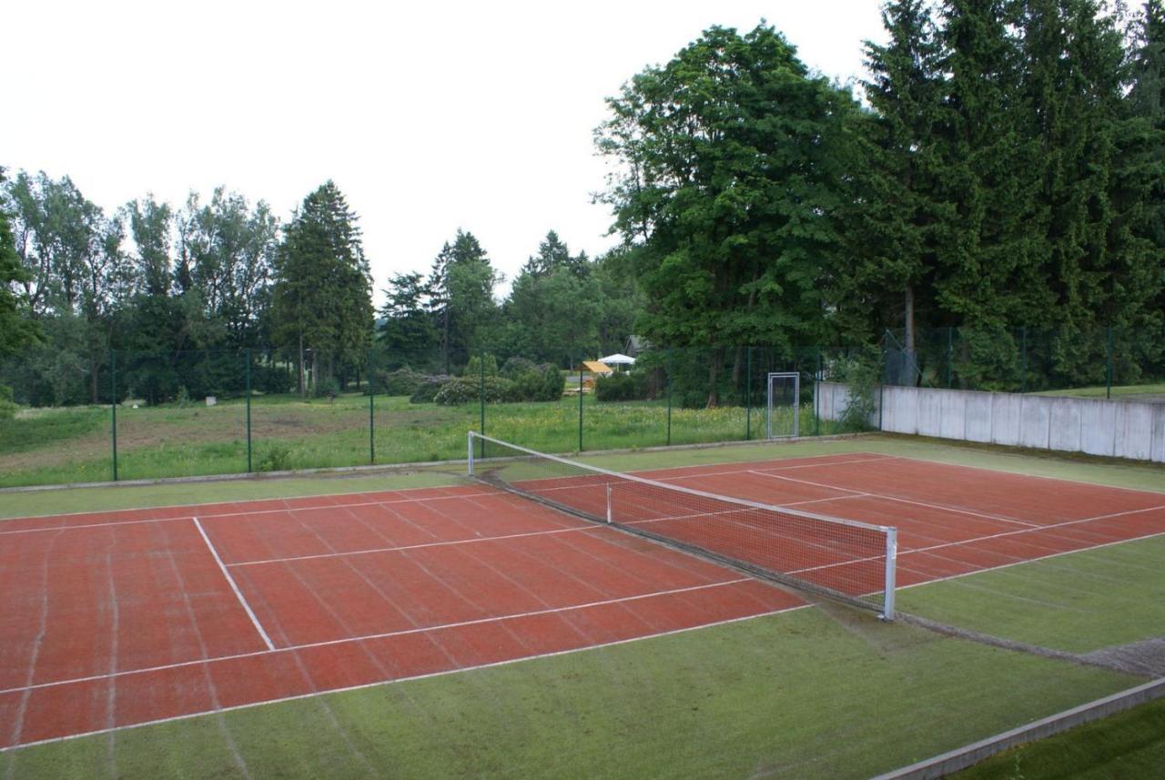
<path id="1" fill-rule="evenodd" d="M 645 473 L 899 529 L 898 584 L 1165 533 L 1165 495 L 857 453 Z M 0 522 L 0 749 L 800 607 L 480 485 Z"/>

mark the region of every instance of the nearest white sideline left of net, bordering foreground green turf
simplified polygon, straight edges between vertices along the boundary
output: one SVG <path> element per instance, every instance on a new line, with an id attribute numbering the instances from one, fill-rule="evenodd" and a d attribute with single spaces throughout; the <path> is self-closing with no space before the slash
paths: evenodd
<path id="1" fill-rule="evenodd" d="M 616 639 L 614 641 L 605 641 L 598 645 L 586 645 L 582 647 L 571 647 L 570 650 L 556 650 L 552 653 L 538 653 L 536 655 L 523 655 L 520 658 L 510 658 L 504 661 L 493 661 L 490 664 L 479 664 L 476 666 L 464 666 L 457 669 L 443 669 L 440 672 L 429 672 L 425 674 L 415 674 L 407 678 L 396 678 L 394 680 L 377 680 L 376 682 L 363 682 L 358 686 L 346 686 L 344 688 L 331 688 L 329 690 L 317 690 L 310 694 L 296 694 L 294 696 L 283 696 L 281 699 L 268 699 L 266 701 L 249 702 L 247 704 L 233 704 L 231 707 L 220 707 L 218 709 L 200 710 L 198 712 L 189 712 L 185 715 L 175 715 L 171 717 L 156 718 L 154 721 L 143 721 L 142 723 L 130 723 L 127 725 L 113 726 L 110 729 L 97 729 L 93 731 L 85 731 L 82 733 L 71 733 L 64 737 L 50 737 L 49 739 L 37 739 L 36 742 L 27 742 L 20 745 L 9 745 L 7 747 L 0 747 L 0 753 L 7 753 L 12 751 L 22 750 L 24 747 L 33 747 L 35 745 L 45 745 L 58 742 L 69 742 L 72 739 L 80 739 L 83 737 L 94 737 L 103 733 L 112 733 L 114 731 L 126 731 L 129 729 L 141 729 L 148 725 L 160 725 L 162 723 L 174 723 L 175 721 L 188 721 L 190 718 L 203 717 L 205 715 L 217 715 L 220 712 L 233 712 L 235 710 L 252 709 L 255 707 L 266 707 L 267 704 L 278 704 L 281 702 L 292 702 L 299 701 L 301 699 L 312 699 L 313 696 L 326 696 L 329 694 L 341 694 L 350 690 L 366 690 L 368 688 L 376 688 L 379 686 L 391 686 L 398 682 L 409 682 L 412 680 L 428 680 L 430 678 L 443 678 L 452 674 L 461 674 L 465 672 L 475 672 L 478 669 L 492 669 L 500 666 L 509 666 L 511 664 L 522 664 L 524 661 L 535 661 L 539 658 L 557 658 L 559 655 L 571 655 L 573 653 L 584 653 L 589 650 L 599 650 L 601 647 L 616 647 L 619 645 L 629 645 L 633 641 L 643 641 L 644 639 L 661 639 L 663 637 L 672 637 L 680 633 L 689 633 L 690 631 L 699 631 L 701 629 L 712 629 L 721 625 L 730 625 L 733 623 L 743 623 L 744 621 L 755 621 L 761 617 L 770 617 L 772 615 L 781 615 L 783 612 L 796 612 L 798 610 L 809 609 L 812 604 L 797 604 L 795 607 L 783 607 L 781 609 L 774 609 L 768 612 L 757 612 L 756 615 L 746 615 L 744 617 L 732 617 L 726 621 L 716 621 L 714 623 L 704 623 L 701 625 L 691 625 L 686 629 L 672 629 L 671 631 L 659 631 L 658 633 L 649 633 L 642 637 L 630 637 L 629 639 Z M 260 653 L 261 654 L 261 653 Z"/>

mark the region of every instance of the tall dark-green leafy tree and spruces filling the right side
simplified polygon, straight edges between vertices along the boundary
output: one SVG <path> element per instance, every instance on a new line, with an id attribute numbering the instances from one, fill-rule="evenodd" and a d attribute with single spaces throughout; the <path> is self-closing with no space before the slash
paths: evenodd
<path id="1" fill-rule="evenodd" d="M 894 0 L 854 92 L 768 26 L 712 28 L 608 101 L 599 150 L 657 342 L 869 343 L 962 328 L 980 368 L 1053 331 L 1159 361 L 1165 15 L 1094 0 Z M 1101 348 L 1103 354 L 1103 348 Z M 986 369 L 983 369 L 986 370 Z"/>

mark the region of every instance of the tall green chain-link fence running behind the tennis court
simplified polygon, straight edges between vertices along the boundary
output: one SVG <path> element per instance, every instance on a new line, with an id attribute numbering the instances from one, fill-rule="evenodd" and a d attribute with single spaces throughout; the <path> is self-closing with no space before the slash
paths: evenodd
<path id="1" fill-rule="evenodd" d="M 19 404 L 0 420 L 0 487 L 454 460 L 468 430 L 551 453 L 757 440 L 774 374 L 799 378 L 798 433 L 824 435 L 863 418 L 824 419 L 816 380 L 1152 391 L 1159 335 L 942 328 L 864 347 L 651 347 L 609 367 L 569 346 L 550 361 L 479 349 L 451 375 L 373 348 L 326 380 L 309 349 L 40 350 L 0 361 Z"/>

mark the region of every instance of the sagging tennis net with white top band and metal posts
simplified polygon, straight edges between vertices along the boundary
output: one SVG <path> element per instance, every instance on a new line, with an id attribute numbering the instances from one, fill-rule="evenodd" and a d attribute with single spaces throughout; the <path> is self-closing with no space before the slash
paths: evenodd
<path id="1" fill-rule="evenodd" d="M 469 432 L 469 476 L 894 618 L 897 530 L 609 471 Z"/>

